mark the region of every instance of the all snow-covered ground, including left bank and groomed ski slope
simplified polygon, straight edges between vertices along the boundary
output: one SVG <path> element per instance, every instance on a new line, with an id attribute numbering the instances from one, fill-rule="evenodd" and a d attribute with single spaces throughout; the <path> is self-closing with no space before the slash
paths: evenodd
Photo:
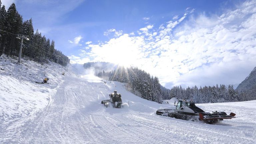
<path id="1" fill-rule="evenodd" d="M 174 100 L 147 101 L 128 92 L 123 83 L 105 84 L 83 75 L 82 65 L 50 63 L 45 70 L 31 61 L 17 65 L 8 60 L 0 59 L 0 68 L 7 70 L 0 70 L 0 143 L 256 143 L 256 101 L 197 104 L 207 112 L 234 112 L 237 118 L 214 125 L 184 121 L 155 114 L 174 107 Z M 31 68 L 26 70 L 26 65 Z M 18 70 L 21 73 L 15 74 Z M 29 77 L 33 71 L 33 76 L 38 74 L 34 79 Z M 52 80 L 49 85 L 33 82 L 44 74 Z M 114 90 L 122 94 L 121 109 L 101 104 Z"/>

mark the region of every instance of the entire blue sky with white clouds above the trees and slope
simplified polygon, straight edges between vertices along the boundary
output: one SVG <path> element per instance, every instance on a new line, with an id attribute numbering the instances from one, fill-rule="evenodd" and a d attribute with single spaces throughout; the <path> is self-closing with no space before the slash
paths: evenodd
<path id="1" fill-rule="evenodd" d="M 1 1 L 73 63 L 138 66 L 167 88 L 240 83 L 256 66 L 255 0 Z"/>

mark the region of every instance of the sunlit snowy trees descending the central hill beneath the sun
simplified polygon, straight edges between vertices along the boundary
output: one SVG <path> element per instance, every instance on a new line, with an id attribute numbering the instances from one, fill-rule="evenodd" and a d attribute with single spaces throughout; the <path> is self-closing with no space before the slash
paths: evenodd
<path id="1" fill-rule="evenodd" d="M 162 103 L 161 85 L 157 77 L 150 76 L 149 73 L 137 67 L 118 67 L 109 72 L 100 71 L 98 77 L 111 81 L 128 83 L 132 87 L 132 93 L 139 92 L 141 98 Z"/>

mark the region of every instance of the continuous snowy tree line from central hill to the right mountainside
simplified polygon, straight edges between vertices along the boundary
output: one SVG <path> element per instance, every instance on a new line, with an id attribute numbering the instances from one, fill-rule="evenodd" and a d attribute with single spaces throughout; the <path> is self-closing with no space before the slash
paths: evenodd
<path id="1" fill-rule="evenodd" d="M 144 70 L 130 67 L 118 67 L 116 70 L 105 72 L 100 71 L 98 77 L 128 83 L 132 86 L 132 92 L 138 94 L 147 100 L 162 103 L 163 99 L 171 99 L 173 97 L 178 99 L 190 99 L 196 103 L 220 103 L 220 102 L 236 102 L 253 100 L 246 91 L 238 92 L 234 90 L 233 85 L 226 87 L 224 84 L 218 86 L 204 86 L 198 88 L 181 86 L 174 86 L 167 89 L 160 85 L 157 77 L 150 76 Z"/>

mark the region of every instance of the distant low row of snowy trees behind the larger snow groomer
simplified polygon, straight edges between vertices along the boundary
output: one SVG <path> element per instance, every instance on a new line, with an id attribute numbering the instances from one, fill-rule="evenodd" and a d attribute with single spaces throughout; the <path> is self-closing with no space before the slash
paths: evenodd
<path id="1" fill-rule="evenodd" d="M 238 92 L 234 90 L 233 85 L 226 87 L 221 84 L 218 86 L 204 86 L 197 88 L 182 88 L 181 86 L 175 86 L 171 89 L 162 87 L 163 98 L 171 99 L 176 97 L 178 99 L 191 99 L 196 103 L 220 103 L 220 102 L 236 102 L 236 101 L 248 101 L 253 100 L 246 91 Z"/>

